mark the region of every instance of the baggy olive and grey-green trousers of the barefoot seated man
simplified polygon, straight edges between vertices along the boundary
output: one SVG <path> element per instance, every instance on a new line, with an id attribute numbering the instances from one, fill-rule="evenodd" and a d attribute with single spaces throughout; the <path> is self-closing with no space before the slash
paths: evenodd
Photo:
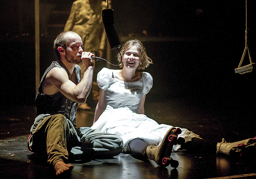
<path id="1" fill-rule="evenodd" d="M 47 153 L 52 166 L 58 161 L 112 158 L 122 152 L 123 141 L 118 135 L 102 133 L 90 127 L 76 128 L 62 114 L 42 114 L 31 127 L 28 148 Z"/>

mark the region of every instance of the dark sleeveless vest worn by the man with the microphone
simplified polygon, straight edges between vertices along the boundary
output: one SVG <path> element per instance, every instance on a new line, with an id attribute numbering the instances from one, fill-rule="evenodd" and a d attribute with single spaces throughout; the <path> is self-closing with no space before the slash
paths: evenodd
<path id="1" fill-rule="evenodd" d="M 64 66 L 64 64 L 62 64 L 62 66 Z M 78 103 L 76 103 L 75 101 L 72 101 L 71 99 L 68 99 L 60 91 L 58 91 L 54 95 L 42 94 L 42 82 L 44 81 L 48 72 L 50 72 L 52 68 L 63 68 L 65 70 L 66 67 L 65 66 L 62 67 L 62 66 L 60 66 L 58 62 L 52 62 L 52 64 L 44 72 L 44 75 L 42 76 L 42 79 L 38 88 L 36 100 L 35 100 L 37 115 L 63 114 L 67 119 L 69 119 L 73 123 L 74 126 L 76 126 L 76 110 L 78 107 Z M 77 76 L 77 82 L 79 83 L 81 81 L 81 78 L 80 78 L 81 68 L 78 65 L 76 65 L 75 70 L 76 70 L 75 74 Z M 69 80 L 72 81 L 72 79 L 70 79 L 70 76 L 69 76 Z"/>

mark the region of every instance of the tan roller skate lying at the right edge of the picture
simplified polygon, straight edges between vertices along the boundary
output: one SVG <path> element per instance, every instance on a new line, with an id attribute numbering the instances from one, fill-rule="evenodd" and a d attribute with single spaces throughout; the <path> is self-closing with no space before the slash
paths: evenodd
<path id="1" fill-rule="evenodd" d="M 251 139 L 245 139 L 234 143 L 226 143 L 222 139 L 221 143 L 217 143 L 217 154 L 222 153 L 226 155 L 232 155 L 235 157 L 251 157 L 256 152 L 256 137 Z"/>

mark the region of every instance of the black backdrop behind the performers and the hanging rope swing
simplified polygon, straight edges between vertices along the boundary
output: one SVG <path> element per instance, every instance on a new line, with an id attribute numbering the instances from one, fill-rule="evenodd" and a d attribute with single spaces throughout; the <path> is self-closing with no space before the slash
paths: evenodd
<path id="1" fill-rule="evenodd" d="M 52 24 L 65 24 L 72 2 L 40 1 L 41 76 L 56 58 L 53 40 L 64 28 Z M 120 40 L 142 40 L 153 60 L 146 71 L 152 74 L 154 86 L 146 100 L 180 99 L 213 115 L 225 113 L 230 122 L 253 125 L 255 71 L 243 75 L 234 71 L 245 47 L 245 4 L 245 0 L 112 0 Z M 255 63 L 256 4 L 248 0 L 247 6 Z M 1 105 L 33 105 L 34 1 L 1 0 L 0 12 Z M 242 66 L 247 64 L 248 52 Z"/>

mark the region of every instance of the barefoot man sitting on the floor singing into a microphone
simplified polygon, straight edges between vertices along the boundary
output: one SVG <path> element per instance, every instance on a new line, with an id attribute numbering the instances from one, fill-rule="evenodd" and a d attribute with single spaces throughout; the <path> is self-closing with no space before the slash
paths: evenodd
<path id="1" fill-rule="evenodd" d="M 37 117 L 31 127 L 28 147 L 47 153 L 56 175 L 71 170 L 68 157 L 90 160 L 114 157 L 122 152 L 123 141 L 117 135 L 90 127 L 76 128 L 76 109 L 84 103 L 92 87 L 94 54 L 83 52 L 82 39 L 72 31 L 62 32 L 54 41 L 58 61 L 52 62 L 42 76 L 35 104 Z M 80 78 L 78 64 L 86 71 Z"/>

